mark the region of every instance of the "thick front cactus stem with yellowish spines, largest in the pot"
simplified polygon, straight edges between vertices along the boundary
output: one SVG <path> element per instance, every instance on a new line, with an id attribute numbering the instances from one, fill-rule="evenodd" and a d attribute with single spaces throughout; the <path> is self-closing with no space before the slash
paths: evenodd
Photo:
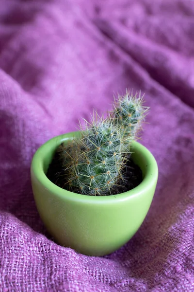
<path id="1" fill-rule="evenodd" d="M 110 117 L 93 119 L 81 130 L 81 139 L 73 143 L 65 169 L 68 189 L 84 195 L 111 195 L 124 180 L 124 153 L 129 153 L 119 128 Z"/>

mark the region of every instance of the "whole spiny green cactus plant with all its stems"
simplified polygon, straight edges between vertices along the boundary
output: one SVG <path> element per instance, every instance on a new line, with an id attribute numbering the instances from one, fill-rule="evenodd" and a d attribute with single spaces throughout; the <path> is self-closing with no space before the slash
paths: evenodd
<path id="1" fill-rule="evenodd" d="M 126 164 L 130 143 L 137 138 L 146 116 L 143 96 L 119 96 L 106 119 L 97 114 L 85 121 L 81 138 L 60 146 L 66 188 L 83 195 L 106 196 L 115 193 L 127 180 Z M 124 184 L 124 183 L 121 183 Z"/>

